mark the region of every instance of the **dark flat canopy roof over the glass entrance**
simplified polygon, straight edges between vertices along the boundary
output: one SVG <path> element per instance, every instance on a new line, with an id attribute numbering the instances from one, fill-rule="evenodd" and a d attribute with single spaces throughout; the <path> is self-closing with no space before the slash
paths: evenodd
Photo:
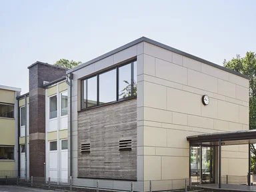
<path id="1" fill-rule="evenodd" d="M 190 145 L 243 145 L 256 143 L 256 129 L 247 131 L 229 131 L 220 133 L 206 133 L 187 137 Z"/>

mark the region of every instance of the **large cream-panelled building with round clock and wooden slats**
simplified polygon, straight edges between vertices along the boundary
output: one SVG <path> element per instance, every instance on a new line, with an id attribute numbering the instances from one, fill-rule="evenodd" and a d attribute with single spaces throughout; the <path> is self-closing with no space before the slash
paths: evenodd
<path id="1" fill-rule="evenodd" d="M 188 136 L 249 129 L 247 76 L 145 37 L 67 75 L 74 185 L 100 180 L 124 189 L 134 181 L 135 191 L 149 191 L 152 181 L 153 190 L 179 189 L 179 179 L 197 182 L 199 174 Z M 201 150 L 201 181 L 217 183 L 218 150 Z M 248 145 L 223 146 L 221 154 L 222 175 L 247 175 Z"/>

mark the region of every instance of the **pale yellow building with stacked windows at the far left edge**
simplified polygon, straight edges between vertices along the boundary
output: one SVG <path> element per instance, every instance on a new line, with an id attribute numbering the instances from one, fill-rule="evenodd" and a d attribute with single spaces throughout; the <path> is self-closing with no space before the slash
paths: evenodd
<path id="1" fill-rule="evenodd" d="M 18 169 L 17 119 L 15 99 L 21 89 L 0 85 L 0 174 L 13 176 Z"/>

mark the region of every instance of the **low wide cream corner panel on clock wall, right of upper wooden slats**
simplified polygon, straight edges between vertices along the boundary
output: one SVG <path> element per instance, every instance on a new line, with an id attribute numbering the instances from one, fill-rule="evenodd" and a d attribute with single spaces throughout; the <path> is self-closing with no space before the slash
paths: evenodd
<path id="1" fill-rule="evenodd" d="M 172 116 L 173 115 L 171 111 L 144 107 L 144 119 L 148 121 L 172 123 L 173 122 Z"/>

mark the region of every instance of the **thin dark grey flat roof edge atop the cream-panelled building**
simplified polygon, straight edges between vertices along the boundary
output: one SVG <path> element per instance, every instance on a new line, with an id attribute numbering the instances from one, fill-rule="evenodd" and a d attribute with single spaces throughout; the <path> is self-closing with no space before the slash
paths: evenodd
<path id="1" fill-rule="evenodd" d="M 113 54 L 115 54 L 115 53 L 118 53 L 119 51 L 123 51 L 124 49 L 127 49 L 127 48 L 129 48 L 129 47 L 132 47 L 133 45 L 136 45 L 136 44 L 141 43 L 141 42 L 143 42 L 143 41 L 145 41 L 145 42 L 147 42 L 147 43 L 151 43 L 151 44 L 156 45 L 156 46 L 158 46 L 158 47 L 161 47 L 161 48 L 163 48 L 163 49 L 167 49 L 167 50 L 172 51 L 172 52 L 174 52 L 174 53 L 177 53 L 177 54 L 179 54 L 179 55 L 183 55 L 183 56 L 185 56 L 185 57 L 189 57 L 190 59 L 194 59 L 194 60 L 199 61 L 199 62 L 201 62 L 201 63 L 205 63 L 205 64 L 207 64 L 207 65 L 211 65 L 212 67 L 216 67 L 216 68 L 221 69 L 221 70 L 223 70 L 223 71 L 227 71 L 227 72 L 229 72 L 229 73 L 233 73 L 234 75 L 238 75 L 238 76 L 243 77 L 243 78 L 245 78 L 245 79 L 250 79 L 250 77 L 248 77 L 247 75 L 243 75 L 242 73 L 239 73 L 239 72 L 237 72 L 237 71 L 233 71 L 233 70 L 228 69 L 228 68 L 226 68 L 226 67 L 223 67 L 223 66 L 221 66 L 221 65 L 217 65 L 217 64 L 212 63 L 212 62 L 210 62 L 210 61 L 207 61 L 207 60 L 205 60 L 205 59 L 201 59 L 200 57 L 196 57 L 195 55 L 191 55 L 191 54 L 189 54 L 189 53 L 185 53 L 185 52 L 183 52 L 183 51 L 180 51 L 180 50 L 178 50 L 178 49 L 175 49 L 175 48 L 173 48 L 173 47 L 169 47 L 168 45 L 165 45 L 165 44 L 163 44 L 163 43 L 159 43 L 159 42 L 154 41 L 154 40 L 152 40 L 152 39 L 149 39 L 149 38 L 147 38 L 147 37 L 141 37 L 141 38 L 139 38 L 139 39 L 136 39 L 135 41 L 131 41 L 130 43 L 127 43 L 126 45 L 123 45 L 123 46 L 121 46 L 121 47 L 118 47 L 117 49 L 114 49 L 113 51 L 109 51 L 108 53 L 105 53 L 105 54 L 103 54 L 103 55 L 101 55 L 101 56 L 99 56 L 99 57 L 96 57 L 95 59 L 92 59 L 91 61 L 87 61 L 86 63 L 83 63 L 83 64 L 81 64 L 81 65 L 79 65 L 79 66 L 77 66 L 77 67 L 75 67 L 75 68 L 73 68 L 73 69 L 69 69 L 69 70 L 67 71 L 67 74 L 72 73 L 73 71 L 77 71 L 77 70 L 79 70 L 79 69 L 81 69 L 81 68 L 83 68 L 83 67 L 86 67 L 87 65 L 91 65 L 92 63 L 95 63 L 95 62 L 97 62 L 97 61 L 99 61 L 99 60 L 101 60 L 101 59 L 104 59 L 105 57 L 109 57 L 110 55 L 113 55 Z"/>

